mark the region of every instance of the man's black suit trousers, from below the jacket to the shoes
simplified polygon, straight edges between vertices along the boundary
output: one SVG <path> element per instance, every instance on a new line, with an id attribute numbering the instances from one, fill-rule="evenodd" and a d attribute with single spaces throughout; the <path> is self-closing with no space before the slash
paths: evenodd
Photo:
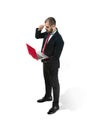
<path id="1" fill-rule="evenodd" d="M 59 105 L 60 85 L 58 80 L 58 62 L 43 63 L 43 74 L 45 80 L 45 96 L 51 96 L 53 89 L 53 105 Z"/>

